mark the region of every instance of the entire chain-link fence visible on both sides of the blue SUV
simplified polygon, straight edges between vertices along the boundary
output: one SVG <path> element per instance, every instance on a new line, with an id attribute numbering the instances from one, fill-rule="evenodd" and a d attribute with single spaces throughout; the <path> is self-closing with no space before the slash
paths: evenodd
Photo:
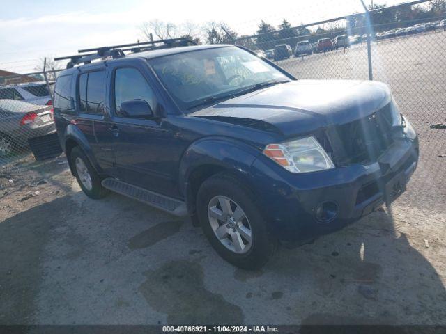
<path id="1" fill-rule="evenodd" d="M 422 203 L 431 196 L 446 198 L 445 9 L 445 1 L 419 0 L 387 8 L 364 6 L 364 13 L 300 26 L 282 24 L 282 29 L 262 21 L 256 35 L 243 38 L 222 29 L 226 41 L 258 50 L 298 79 L 374 79 L 388 84 L 420 135 L 421 157 L 413 187 Z M 50 104 L 56 74 L 0 77 L 3 169 L 29 154 L 35 138 L 54 132 Z M 40 150 L 45 148 L 52 150 L 49 146 Z"/>

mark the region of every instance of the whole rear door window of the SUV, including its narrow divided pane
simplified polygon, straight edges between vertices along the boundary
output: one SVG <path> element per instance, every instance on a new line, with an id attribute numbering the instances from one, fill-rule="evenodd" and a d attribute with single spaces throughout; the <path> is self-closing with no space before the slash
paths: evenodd
<path id="1" fill-rule="evenodd" d="M 79 110 L 82 113 L 102 115 L 105 100 L 105 71 L 84 73 L 79 76 Z"/>

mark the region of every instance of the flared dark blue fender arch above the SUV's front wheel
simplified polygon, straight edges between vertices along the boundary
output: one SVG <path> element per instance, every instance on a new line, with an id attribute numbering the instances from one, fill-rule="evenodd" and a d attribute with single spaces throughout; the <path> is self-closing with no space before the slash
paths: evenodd
<path id="1" fill-rule="evenodd" d="M 252 146 L 233 138 L 213 136 L 195 141 L 180 161 L 178 185 L 181 195 L 187 198 L 188 180 L 196 168 L 212 165 L 245 177 L 258 154 Z"/>

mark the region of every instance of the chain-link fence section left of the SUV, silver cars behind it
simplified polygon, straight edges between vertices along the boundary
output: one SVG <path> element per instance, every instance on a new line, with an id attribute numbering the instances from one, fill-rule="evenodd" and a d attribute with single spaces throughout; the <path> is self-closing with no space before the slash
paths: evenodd
<path id="1" fill-rule="evenodd" d="M 0 166 L 17 166 L 32 151 L 36 159 L 61 152 L 52 114 L 57 72 L 6 74 L 0 77 Z M 20 163 L 18 165 L 20 167 Z"/>

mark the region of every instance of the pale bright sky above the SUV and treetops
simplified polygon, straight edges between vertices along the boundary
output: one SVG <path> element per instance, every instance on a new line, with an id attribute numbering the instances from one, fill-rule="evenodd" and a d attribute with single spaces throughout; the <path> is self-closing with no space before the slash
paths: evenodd
<path id="1" fill-rule="evenodd" d="M 226 22 L 240 34 L 254 34 L 261 19 L 277 26 L 286 18 L 296 26 L 363 11 L 360 0 L 0 1 L 0 69 L 22 73 L 32 72 L 39 57 L 136 42 L 142 38 L 139 26 L 151 19 Z M 389 6 L 400 2 L 374 1 Z"/>

